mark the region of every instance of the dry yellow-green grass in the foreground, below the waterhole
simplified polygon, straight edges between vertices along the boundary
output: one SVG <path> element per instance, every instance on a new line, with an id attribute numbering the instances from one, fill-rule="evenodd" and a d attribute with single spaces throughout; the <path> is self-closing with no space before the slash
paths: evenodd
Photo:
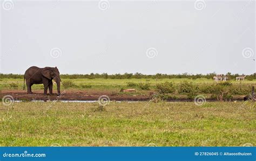
<path id="1" fill-rule="evenodd" d="M 2 146 L 256 145 L 254 102 L 0 104 Z"/>

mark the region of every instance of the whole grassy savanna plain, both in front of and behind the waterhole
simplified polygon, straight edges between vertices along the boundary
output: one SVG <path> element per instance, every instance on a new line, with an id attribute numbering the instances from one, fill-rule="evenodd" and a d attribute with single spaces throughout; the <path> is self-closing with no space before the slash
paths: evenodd
<path id="1" fill-rule="evenodd" d="M 103 91 L 109 94 L 110 102 L 106 106 L 97 101 L 24 99 L 9 106 L 1 103 L 1 146 L 256 145 L 256 103 L 237 100 L 250 94 L 255 80 L 62 79 L 62 82 L 62 91 L 70 94 Z M 1 97 L 10 93 L 15 98 L 15 93 L 25 93 L 22 88 L 23 79 L 0 80 Z M 136 92 L 124 93 L 122 90 L 126 88 L 134 88 Z M 32 89 L 43 95 L 41 85 Z M 111 99 L 119 95 L 144 95 L 146 99 L 133 102 Z M 167 101 L 193 100 L 197 95 L 205 97 L 200 106 L 194 101 Z"/>

